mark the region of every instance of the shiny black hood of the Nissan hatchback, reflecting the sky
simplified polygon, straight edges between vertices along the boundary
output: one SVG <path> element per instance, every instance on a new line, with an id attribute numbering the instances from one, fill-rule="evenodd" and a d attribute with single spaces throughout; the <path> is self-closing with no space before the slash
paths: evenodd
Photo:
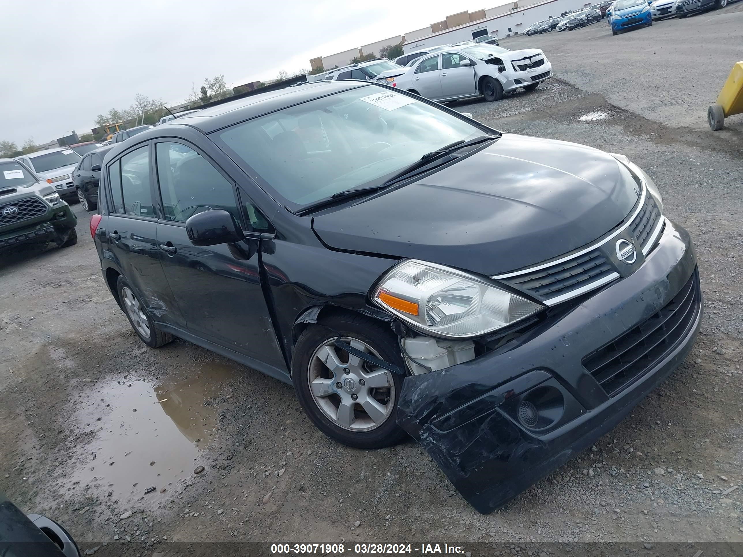
<path id="1" fill-rule="evenodd" d="M 497 275 L 600 238 L 624 221 L 639 193 L 605 152 L 503 134 L 417 182 L 318 215 L 313 227 L 337 250 Z"/>

